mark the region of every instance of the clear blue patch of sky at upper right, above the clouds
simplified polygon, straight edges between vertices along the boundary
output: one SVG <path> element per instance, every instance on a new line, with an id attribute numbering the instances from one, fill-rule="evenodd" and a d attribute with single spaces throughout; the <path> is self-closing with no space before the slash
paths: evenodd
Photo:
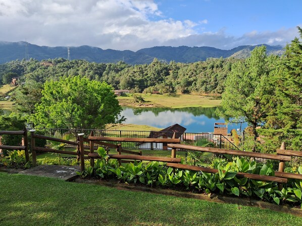
<path id="1" fill-rule="evenodd" d="M 250 31 L 274 31 L 302 23 L 302 1 L 290 0 L 194 0 L 156 1 L 165 17 L 193 22 L 207 20 L 199 25 L 199 32 L 225 29 L 232 35 Z"/>

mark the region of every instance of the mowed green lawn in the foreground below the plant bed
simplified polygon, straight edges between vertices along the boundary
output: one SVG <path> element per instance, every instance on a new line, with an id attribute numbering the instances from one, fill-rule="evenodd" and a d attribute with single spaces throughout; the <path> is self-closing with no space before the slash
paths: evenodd
<path id="1" fill-rule="evenodd" d="M 1 225 L 302 225 L 256 207 L 0 173 Z"/>

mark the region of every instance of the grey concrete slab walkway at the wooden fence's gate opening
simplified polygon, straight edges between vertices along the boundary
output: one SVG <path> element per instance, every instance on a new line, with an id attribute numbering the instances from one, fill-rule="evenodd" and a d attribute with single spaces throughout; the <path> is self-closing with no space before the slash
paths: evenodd
<path id="1" fill-rule="evenodd" d="M 23 170 L 20 174 L 53 177 L 65 181 L 71 181 L 78 177 L 76 172 L 80 172 L 80 166 L 41 165 L 28 170 Z"/>

